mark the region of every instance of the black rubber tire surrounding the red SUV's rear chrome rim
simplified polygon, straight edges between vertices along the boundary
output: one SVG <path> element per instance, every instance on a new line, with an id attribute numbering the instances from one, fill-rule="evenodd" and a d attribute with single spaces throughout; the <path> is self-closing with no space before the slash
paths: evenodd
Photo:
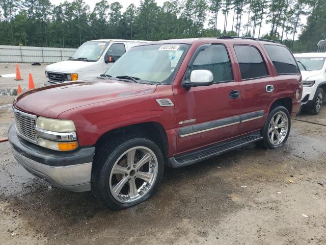
<path id="1" fill-rule="evenodd" d="M 287 130 L 286 136 L 285 136 L 284 140 L 282 141 L 282 143 L 280 143 L 278 145 L 274 145 L 274 144 L 272 144 L 269 141 L 268 126 L 269 126 L 270 120 L 275 116 L 275 114 L 277 112 L 280 112 L 280 111 L 284 112 L 285 115 L 287 116 L 287 119 L 288 119 L 288 130 Z M 263 136 L 263 145 L 267 149 L 275 149 L 275 148 L 279 148 L 280 146 L 283 146 L 285 144 L 285 142 L 287 141 L 287 138 L 289 137 L 290 130 L 291 130 L 291 118 L 290 118 L 289 111 L 285 107 L 283 107 L 283 106 L 278 106 L 278 107 L 274 108 L 268 114 L 268 117 L 266 119 L 265 125 L 264 125 L 264 127 L 263 127 L 263 129 L 261 131 L 261 134 Z"/>

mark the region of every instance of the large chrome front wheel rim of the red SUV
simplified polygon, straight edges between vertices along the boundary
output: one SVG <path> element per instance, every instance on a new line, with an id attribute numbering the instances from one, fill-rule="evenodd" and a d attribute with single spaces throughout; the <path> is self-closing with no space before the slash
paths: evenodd
<path id="1" fill-rule="evenodd" d="M 152 188 L 157 176 L 152 150 L 137 146 L 124 152 L 112 167 L 109 179 L 113 197 L 121 203 L 138 201 Z"/>

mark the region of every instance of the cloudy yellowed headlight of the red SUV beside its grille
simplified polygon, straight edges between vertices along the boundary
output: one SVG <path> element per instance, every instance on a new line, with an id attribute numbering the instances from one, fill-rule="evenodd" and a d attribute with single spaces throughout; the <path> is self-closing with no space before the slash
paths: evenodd
<path id="1" fill-rule="evenodd" d="M 58 133 L 75 132 L 76 128 L 72 120 L 51 119 L 39 116 L 36 120 L 36 127 Z"/>

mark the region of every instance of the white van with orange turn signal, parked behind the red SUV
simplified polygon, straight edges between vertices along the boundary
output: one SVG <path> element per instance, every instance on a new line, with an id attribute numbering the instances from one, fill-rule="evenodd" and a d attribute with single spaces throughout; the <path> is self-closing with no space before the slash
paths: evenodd
<path id="1" fill-rule="evenodd" d="M 103 74 L 131 47 L 148 41 L 100 39 L 84 42 L 68 60 L 45 68 L 44 85 L 83 81 Z"/>

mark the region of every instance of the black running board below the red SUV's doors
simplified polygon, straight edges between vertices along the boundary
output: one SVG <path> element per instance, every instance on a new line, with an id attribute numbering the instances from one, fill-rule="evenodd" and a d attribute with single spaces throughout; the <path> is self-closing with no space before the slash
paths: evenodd
<path id="1" fill-rule="evenodd" d="M 193 152 L 176 155 L 174 157 L 169 158 L 168 166 L 176 168 L 191 165 L 221 155 L 228 151 L 240 148 L 243 145 L 259 141 L 261 139 L 263 139 L 263 137 L 260 135 L 259 131 L 257 131 L 236 139 L 231 139 L 223 141 L 221 143 L 209 145 Z"/>

